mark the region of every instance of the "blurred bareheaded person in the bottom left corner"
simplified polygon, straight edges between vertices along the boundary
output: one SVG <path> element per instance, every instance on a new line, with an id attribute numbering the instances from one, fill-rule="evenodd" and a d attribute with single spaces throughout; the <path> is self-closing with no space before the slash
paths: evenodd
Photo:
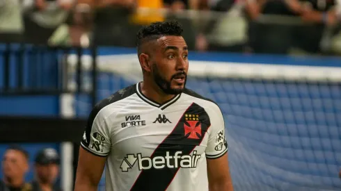
<path id="1" fill-rule="evenodd" d="M 0 191 L 29 191 L 31 184 L 25 183 L 29 171 L 29 153 L 15 145 L 8 147 L 2 160 L 3 181 Z"/>

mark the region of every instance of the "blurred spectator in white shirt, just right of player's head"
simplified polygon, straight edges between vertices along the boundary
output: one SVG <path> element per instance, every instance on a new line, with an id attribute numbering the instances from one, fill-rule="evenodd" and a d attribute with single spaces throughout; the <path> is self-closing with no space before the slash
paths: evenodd
<path id="1" fill-rule="evenodd" d="M 197 49 L 204 51 L 249 51 L 248 24 L 257 19 L 265 0 L 208 0 L 211 10 L 219 11 L 204 31 L 198 35 Z M 207 42 L 205 42 L 207 40 Z"/>

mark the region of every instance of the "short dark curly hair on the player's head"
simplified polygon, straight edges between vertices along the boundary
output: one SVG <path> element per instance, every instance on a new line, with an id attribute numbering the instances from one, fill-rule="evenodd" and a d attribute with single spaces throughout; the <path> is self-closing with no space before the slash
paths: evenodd
<path id="1" fill-rule="evenodd" d="M 182 26 L 176 20 L 167 22 L 153 22 L 148 26 L 143 26 L 136 35 L 138 55 L 141 53 L 141 45 L 149 40 L 155 40 L 162 36 L 181 36 Z"/>

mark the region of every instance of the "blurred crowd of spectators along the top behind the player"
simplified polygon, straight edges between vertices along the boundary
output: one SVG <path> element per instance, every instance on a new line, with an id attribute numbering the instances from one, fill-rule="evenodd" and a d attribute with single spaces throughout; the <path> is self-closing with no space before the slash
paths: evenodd
<path id="1" fill-rule="evenodd" d="M 341 0 L 0 0 L 0 42 L 135 47 L 177 19 L 197 51 L 340 55 L 340 15 Z"/>

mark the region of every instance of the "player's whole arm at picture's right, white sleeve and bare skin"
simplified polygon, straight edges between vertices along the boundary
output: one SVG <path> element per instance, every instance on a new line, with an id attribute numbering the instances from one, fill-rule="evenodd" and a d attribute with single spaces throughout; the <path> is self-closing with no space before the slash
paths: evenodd
<path id="1" fill-rule="evenodd" d="M 211 131 L 205 150 L 209 191 L 233 191 L 228 165 L 228 142 L 225 138 L 225 124 L 218 106 L 214 106 L 211 117 Z"/>

